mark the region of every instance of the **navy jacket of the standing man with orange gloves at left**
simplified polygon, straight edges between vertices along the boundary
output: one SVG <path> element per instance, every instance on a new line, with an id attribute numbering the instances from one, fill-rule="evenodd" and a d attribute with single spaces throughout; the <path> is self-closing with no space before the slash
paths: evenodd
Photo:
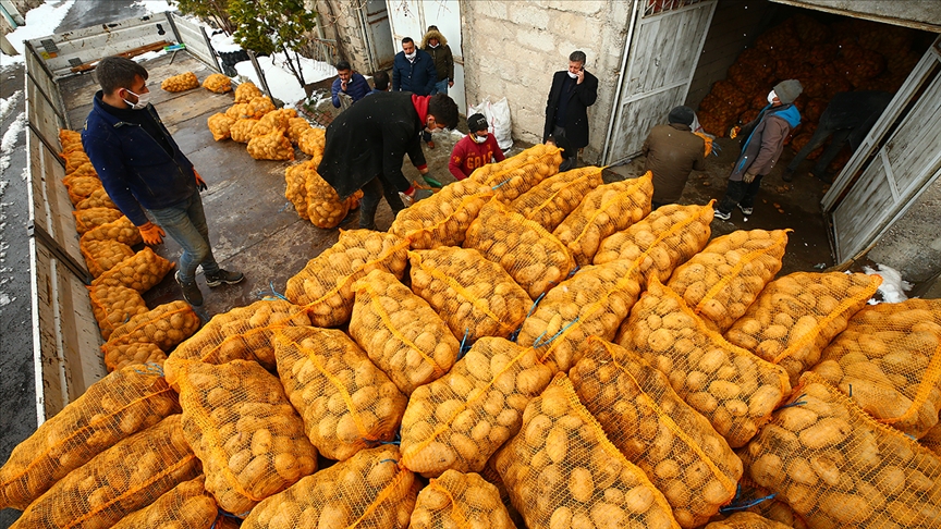
<path id="1" fill-rule="evenodd" d="M 82 145 L 111 201 L 131 222 L 144 225 L 148 222 L 144 209 L 169 208 L 196 193 L 193 163 L 152 104 L 136 112 L 147 112 L 157 122 L 172 156 L 140 125 L 121 121 L 102 104 L 99 90 L 82 130 Z"/>

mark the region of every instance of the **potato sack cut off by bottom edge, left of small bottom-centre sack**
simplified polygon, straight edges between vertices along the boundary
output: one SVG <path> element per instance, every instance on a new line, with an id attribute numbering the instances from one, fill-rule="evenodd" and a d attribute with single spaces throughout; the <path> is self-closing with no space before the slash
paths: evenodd
<path id="1" fill-rule="evenodd" d="M 398 459 L 391 445 L 364 450 L 265 500 L 242 529 L 406 529 L 418 490 Z"/>

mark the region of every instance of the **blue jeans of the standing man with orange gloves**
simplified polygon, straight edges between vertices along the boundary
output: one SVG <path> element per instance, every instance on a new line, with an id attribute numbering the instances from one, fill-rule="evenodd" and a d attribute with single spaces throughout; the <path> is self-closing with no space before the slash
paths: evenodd
<path id="1" fill-rule="evenodd" d="M 180 281 L 191 283 L 196 279 L 196 268 L 203 264 L 203 273 L 219 271 L 219 263 L 212 257 L 209 246 L 209 229 L 199 192 L 190 198 L 164 209 L 151 209 L 154 221 L 183 247 L 180 256 Z"/>

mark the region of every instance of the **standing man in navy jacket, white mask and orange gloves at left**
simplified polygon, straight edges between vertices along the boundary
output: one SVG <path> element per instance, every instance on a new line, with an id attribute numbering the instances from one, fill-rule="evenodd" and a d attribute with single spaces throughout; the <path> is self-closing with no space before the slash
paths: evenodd
<path id="1" fill-rule="evenodd" d="M 219 268 L 212 257 L 199 197 L 206 183 L 148 102 L 147 70 L 130 59 L 108 57 L 96 73 L 101 90 L 82 130 L 85 152 L 111 201 L 140 230 L 146 244 L 158 245 L 169 233 L 183 247 L 176 282 L 190 305 L 203 305 L 196 285 L 200 264 L 209 286 L 244 279 Z"/>

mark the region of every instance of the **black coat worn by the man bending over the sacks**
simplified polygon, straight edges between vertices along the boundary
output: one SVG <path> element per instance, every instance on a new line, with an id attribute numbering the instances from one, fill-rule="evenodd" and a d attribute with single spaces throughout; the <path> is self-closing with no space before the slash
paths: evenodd
<path id="1" fill-rule="evenodd" d="M 428 96 L 384 91 L 359 100 L 327 127 L 323 159 L 317 172 L 346 198 L 379 176 L 383 186 L 404 192 L 412 183 L 402 174 L 402 157 L 425 168 L 420 133 L 425 116 L 413 98 L 427 109 Z"/>

